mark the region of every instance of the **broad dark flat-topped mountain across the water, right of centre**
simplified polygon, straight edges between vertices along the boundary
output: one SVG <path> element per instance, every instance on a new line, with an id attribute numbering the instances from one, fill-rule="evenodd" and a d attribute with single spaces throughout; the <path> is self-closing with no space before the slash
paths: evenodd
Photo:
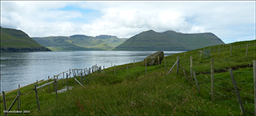
<path id="1" fill-rule="evenodd" d="M 113 50 L 187 51 L 220 44 L 224 44 L 223 41 L 211 32 L 186 34 L 175 31 L 148 30 L 127 39 Z"/>

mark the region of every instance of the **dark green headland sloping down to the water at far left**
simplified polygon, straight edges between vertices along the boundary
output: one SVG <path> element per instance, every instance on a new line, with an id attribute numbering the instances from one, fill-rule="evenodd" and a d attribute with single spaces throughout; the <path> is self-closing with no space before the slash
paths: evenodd
<path id="1" fill-rule="evenodd" d="M 50 49 L 36 43 L 35 40 L 21 30 L 1 27 L 1 52 L 33 51 L 50 51 Z"/>

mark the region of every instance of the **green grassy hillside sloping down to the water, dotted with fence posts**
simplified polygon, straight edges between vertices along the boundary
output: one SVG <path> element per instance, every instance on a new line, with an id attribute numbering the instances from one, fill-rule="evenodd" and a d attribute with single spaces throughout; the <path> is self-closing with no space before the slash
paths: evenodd
<path id="1" fill-rule="evenodd" d="M 147 76 L 142 62 L 137 62 L 135 67 L 133 63 L 117 66 L 116 76 L 114 76 L 114 68 L 111 67 L 104 70 L 105 73 L 92 73 L 86 77 L 88 84 L 84 82 L 85 88 L 80 85 L 74 87 L 74 79 L 71 78 L 68 83 L 74 88 L 58 94 L 57 99 L 55 94 L 48 94 L 48 87 L 41 90 L 40 112 L 37 109 L 33 85 L 29 85 L 21 89 L 21 107 L 22 110 L 30 113 L 21 115 L 240 115 L 237 97 L 227 70 L 229 68 L 234 70 L 246 114 L 254 114 L 252 63 L 256 60 L 255 42 L 254 40 L 232 43 L 232 56 L 230 56 L 230 46 L 227 45 L 220 45 L 220 56 L 219 46 L 211 46 L 212 56 L 202 56 L 202 58 L 199 58 L 198 52 L 202 49 L 166 56 L 167 70 L 163 61 L 161 65 L 147 67 Z M 250 46 L 245 56 L 246 47 L 242 46 L 247 43 L 250 43 Z M 180 56 L 178 74 L 175 67 L 166 76 L 177 56 Z M 193 70 L 199 82 L 200 94 L 195 81 L 190 81 L 190 56 L 193 58 Z M 215 101 L 211 99 L 210 89 L 211 58 L 214 60 Z M 127 65 L 129 75 L 127 75 Z M 188 80 L 185 79 L 182 67 L 185 68 Z M 157 76 L 154 73 L 157 73 Z M 66 81 L 63 83 L 59 80 L 58 86 L 60 89 L 66 86 Z M 50 93 L 53 92 L 53 84 L 51 84 Z M 8 106 L 12 104 L 16 94 L 17 90 L 6 95 Z M 17 104 L 11 111 L 16 109 Z"/>

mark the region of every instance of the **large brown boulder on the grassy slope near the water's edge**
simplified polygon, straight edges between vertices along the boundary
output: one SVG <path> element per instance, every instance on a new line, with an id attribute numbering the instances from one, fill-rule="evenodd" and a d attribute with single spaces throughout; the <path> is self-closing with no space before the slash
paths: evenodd
<path id="1" fill-rule="evenodd" d="M 159 64 L 161 64 L 163 58 L 164 58 L 164 52 L 163 51 L 158 51 L 154 54 L 151 54 L 150 56 L 147 56 L 143 64 L 145 66 L 145 60 L 147 60 L 147 66 L 153 66 L 153 65 L 158 65 L 158 56 L 159 56 Z"/>

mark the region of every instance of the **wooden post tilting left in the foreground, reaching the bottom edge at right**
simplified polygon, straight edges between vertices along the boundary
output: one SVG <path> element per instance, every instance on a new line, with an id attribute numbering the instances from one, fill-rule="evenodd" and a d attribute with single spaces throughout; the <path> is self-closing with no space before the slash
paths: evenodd
<path id="1" fill-rule="evenodd" d="M 233 71 L 232 71 L 232 69 L 229 69 L 229 71 L 230 71 L 230 77 L 231 77 L 232 83 L 233 83 L 233 85 L 234 85 L 234 90 L 235 90 L 235 92 L 236 92 L 236 94 L 237 94 L 237 101 L 238 101 L 238 103 L 239 103 L 239 105 L 240 105 L 240 110 L 242 111 L 243 115 L 245 115 L 243 102 L 242 102 L 242 100 L 241 100 L 240 93 L 239 93 L 239 90 L 238 90 L 238 88 L 237 88 L 237 83 L 236 83 L 236 80 L 235 80 L 235 78 L 234 78 Z"/>

